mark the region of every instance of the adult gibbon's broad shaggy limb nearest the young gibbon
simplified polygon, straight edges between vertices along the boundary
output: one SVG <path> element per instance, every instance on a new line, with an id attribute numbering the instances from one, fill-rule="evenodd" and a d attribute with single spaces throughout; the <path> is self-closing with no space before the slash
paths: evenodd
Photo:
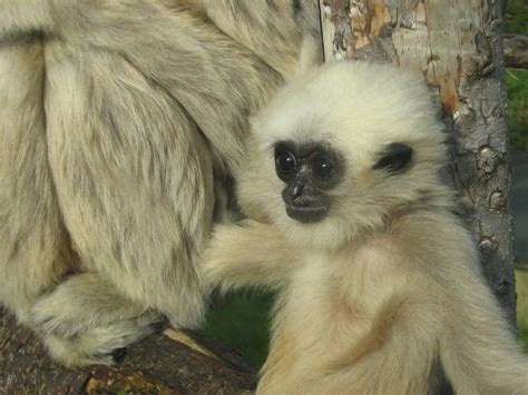
<path id="1" fill-rule="evenodd" d="M 196 326 L 207 292 L 197 255 L 214 205 L 208 147 L 178 102 L 119 55 L 53 42 L 46 60 L 50 164 L 84 265 L 173 325 Z"/>

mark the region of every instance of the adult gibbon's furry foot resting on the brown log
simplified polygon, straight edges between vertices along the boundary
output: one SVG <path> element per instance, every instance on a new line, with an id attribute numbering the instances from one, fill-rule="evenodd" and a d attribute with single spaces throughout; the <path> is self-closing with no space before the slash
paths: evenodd
<path id="1" fill-rule="evenodd" d="M 29 325 L 66 365 L 111 365 L 123 359 L 124 347 L 164 323 L 162 314 L 115 289 L 97 274 L 67 278 L 31 306 Z"/>

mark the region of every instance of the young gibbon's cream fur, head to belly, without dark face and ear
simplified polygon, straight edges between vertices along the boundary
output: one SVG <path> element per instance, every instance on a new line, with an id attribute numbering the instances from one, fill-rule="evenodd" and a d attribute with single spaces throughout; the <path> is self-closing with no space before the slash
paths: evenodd
<path id="1" fill-rule="evenodd" d="M 439 179 L 444 136 L 427 90 L 389 66 L 334 63 L 283 89 L 254 120 L 243 210 L 215 228 L 209 279 L 278 290 L 261 394 L 527 394 L 528 363 Z M 329 216 L 286 216 L 273 144 L 324 141 L 345 158 Z M 411 166 L 373 169 L 391 142 Z"/>

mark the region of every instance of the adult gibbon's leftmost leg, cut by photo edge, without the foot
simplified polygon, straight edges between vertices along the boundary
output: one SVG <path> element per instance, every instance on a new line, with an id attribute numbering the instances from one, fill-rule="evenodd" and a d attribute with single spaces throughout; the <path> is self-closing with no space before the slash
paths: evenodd
<path id="1" fill-rule="evenodd" d="M 30 325 L 31 304 L 72 263 L 48 165 L 42 45 L 0 45 L 0 303 Z"/>

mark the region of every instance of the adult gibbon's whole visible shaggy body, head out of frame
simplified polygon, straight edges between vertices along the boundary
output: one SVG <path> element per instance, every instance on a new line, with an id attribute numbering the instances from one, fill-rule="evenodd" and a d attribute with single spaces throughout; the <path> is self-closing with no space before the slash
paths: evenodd
<path id="1" fill-rule="evenodd" d="M 316 30 L 274 4 L 0 0 L 0 303 L 57 359 L 111 363 L 158 313 L 199 324 L 247 117 Z"/>

